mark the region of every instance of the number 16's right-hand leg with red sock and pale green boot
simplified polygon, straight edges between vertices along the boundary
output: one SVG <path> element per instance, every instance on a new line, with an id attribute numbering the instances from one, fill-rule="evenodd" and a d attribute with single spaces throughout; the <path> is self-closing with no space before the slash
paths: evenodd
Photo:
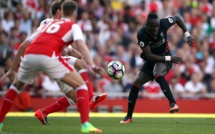
<path id="1" fill-rule="evenodd" d="M 102 132 L 100 129 L 95 128 L 89 123 L 89 98 L 87 86 L 81 76 L 73 70 L 67 73 L 62 79 L 63 82 L 72 86 L 76 90 L 77 107 L 81 115 L 81 131 L 82 132 Z M 67 97 L 73 96 L 72 92 L 66 93 Z"/>

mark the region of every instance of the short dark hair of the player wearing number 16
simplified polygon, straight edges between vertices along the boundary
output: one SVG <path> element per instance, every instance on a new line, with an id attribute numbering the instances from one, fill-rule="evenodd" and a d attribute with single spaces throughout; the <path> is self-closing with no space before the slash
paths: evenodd
<path id="1" fill-rule="evenodd" d="M 74 1 L 65 1 L 61 8 L 63 16 L 71 16 L 78 9 L 78 5 Z"/>

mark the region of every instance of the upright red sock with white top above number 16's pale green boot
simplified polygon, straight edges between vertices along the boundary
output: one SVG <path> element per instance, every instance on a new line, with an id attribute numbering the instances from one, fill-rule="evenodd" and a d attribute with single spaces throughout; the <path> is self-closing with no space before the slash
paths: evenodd
<path id="1" fill-rule="evenodd" d="M 77 107 L 81 115 L 81 124 L 89 121 L 89 98 L 86 85 L 81 85 L 76 89 Z"/>

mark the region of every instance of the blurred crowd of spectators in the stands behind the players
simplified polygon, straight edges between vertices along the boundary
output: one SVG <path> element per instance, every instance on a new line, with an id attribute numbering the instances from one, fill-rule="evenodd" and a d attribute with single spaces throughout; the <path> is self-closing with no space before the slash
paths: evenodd
<path id="1" fill-rule="evenodd" d="M 168 31 L 168 43 L 173 55 L 183 58 L 166 76 L 177 98 L 199 97 L 215 93 L 215 1 L 213 0 L 76 0 L 77 24 L 94 62 L 106 68 L 112 60 L 125 66 L 121 80 L 101 78 L 89 68 L 95 92 L 113 93 L 119 97 L 128 93 L 143 64 L 136 34 L 145 25 L 149 12 L 159 18 L 179 15 L 195 39 L 194 47 L 186 43 L 183 31 L 176 25 Z M 19 45 L 46 18 L 50 18 L 53 0 L 0 1 L 0 76 L 8 71 Z M 1 85 L 5 91 L 14 77 Z M 48 76 L 38 73 L 34 83 L 25 91 L 44 97 L 47 92 L 57 94 L 59 87 Z M 128 94 L 126 94 L 128 96 Z M 140 97 L 163 97 L 159 85 L 150 81 L 141 88 Z M 111 96 L 110 96 L 111 97 Z M 215 95 L 214 95 L 215 98 Z"/>

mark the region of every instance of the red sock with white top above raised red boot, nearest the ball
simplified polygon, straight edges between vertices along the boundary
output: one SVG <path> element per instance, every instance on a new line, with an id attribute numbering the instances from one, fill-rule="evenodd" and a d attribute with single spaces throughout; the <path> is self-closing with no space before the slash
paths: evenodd
<path id="1" fill-rule="evenodd" d="M 88 73 L 87 73 L 87 69 L 81 69 L 79 71 L 79 74 L 81 75 L 81 77 L 83 78 L 83 80 L 85 81 L 85 83 L 87 84 L 87 88 L 88 88 L 88 94 L 89 94 L 89 100 L 91 100 L 93 98 L 93 86 L 92 83 L 88 77 Z"/>

